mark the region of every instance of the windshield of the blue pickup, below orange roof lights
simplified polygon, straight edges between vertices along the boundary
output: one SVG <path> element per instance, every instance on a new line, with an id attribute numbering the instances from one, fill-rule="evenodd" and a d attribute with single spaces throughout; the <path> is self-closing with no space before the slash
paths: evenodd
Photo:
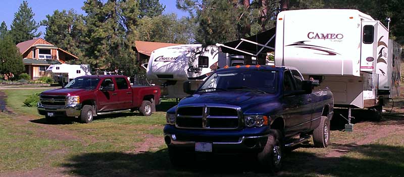
<path id="1" fill-rule="evenodd" d="M 248 91 L 276 93 L 277 71 L 252 70 L 232 71 L 212 74 L 197 92 Z"/>

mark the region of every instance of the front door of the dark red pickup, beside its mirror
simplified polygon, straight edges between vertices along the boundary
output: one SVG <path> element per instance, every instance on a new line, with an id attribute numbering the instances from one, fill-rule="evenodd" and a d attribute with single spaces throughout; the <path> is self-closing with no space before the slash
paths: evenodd
<path id="1" fill-rule="evenodd" d="M 107 86 L 109 84 L 114 83 L 112 78 L 105 78 L 103 82 L 101 83 L 100 88 L 103 86 Z M 105 111 L 111 111 L 115 110 L 116 105 L 119 105 L 118 102 L 118 94 L 117 94 L 117 87 L 116 84 L 114 85 L 115 90 L 114 91 L 101 91 L 100 89 L 96 92 L 97 95 L 97 111 L 98 112 L 105 112 Z"/>

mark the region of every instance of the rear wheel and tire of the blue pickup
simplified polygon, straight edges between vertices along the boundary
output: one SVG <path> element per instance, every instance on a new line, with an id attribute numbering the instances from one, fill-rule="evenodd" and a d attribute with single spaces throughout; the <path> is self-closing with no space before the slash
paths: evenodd
<path id="1" fill-rule="evenodd" d="M 321 116 L 320 125 L 313 131 L 313 142 L 316 147 L 327 147 L 330 144 L 330 121 Z"/>

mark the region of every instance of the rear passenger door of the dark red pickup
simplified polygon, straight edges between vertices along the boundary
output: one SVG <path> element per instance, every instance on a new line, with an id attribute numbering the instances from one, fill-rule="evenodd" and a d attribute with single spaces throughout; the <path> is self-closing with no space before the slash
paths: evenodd
<path id="1" fill-rule="evenodd" d="M 119 104 L 118 109 L 129 109 L 132 108 L 133 94 L 132 87 L 128 85 L 128 81 L 125 77 L 116 77 L 115 81 L 117 83 L 117 94 Z"/>

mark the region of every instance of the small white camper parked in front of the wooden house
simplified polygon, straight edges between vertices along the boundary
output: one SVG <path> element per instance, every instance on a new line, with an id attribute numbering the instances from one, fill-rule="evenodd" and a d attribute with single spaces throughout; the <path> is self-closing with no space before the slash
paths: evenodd
<path id="1" fill-rule="evenodd" d="M 76 77 L 91 75 L 88 64 L 53 64 L 46 69 L 46 72 L 52 75 L 55 82 L 62 85 Z"/>

